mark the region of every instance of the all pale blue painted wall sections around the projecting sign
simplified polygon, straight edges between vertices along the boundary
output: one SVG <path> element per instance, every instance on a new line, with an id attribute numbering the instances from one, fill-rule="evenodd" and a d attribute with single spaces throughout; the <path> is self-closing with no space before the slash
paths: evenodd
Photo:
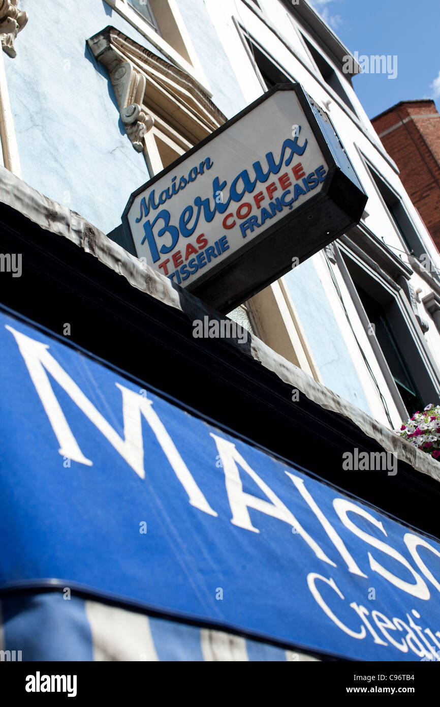
<path id="1" fill-rule="evenodd" d="M 234 69 L 203 0 L 178 0 L 213 101 L 227 117 L 245 106 Z M 120 223 L 129 194 L 148 180 L 121 119 L 107 70 L 85 41 L 113 25 L 160 52 L 104 0 L 20 0 L 29 22 L 4 56 L 23 179 L 108 233 Z M 370 413 L 342 332 L 309 261 L 285 277 L 325 384 Z"/>

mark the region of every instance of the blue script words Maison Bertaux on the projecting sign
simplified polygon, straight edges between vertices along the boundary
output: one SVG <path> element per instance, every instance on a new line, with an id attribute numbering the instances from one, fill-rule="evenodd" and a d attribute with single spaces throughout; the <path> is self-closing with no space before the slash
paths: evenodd
<path id="1" fill-rule="evenodd" d="M 266 168 L 263 168 L 260 162 L 254 162 L 252 168 L 254 169 L 255 176 L 251 177 L 247 170 L 242 170 L 242 172 L 240 172 L 237 177 L 232 180 L 229 188 L 229 193 L 227 194 L 227 197 L 222 200 L 218 199 L 217 197 L 219 193 L 223 194 L 225 192 L 227 182 L 225 180 L 220 181 L 220 177 L 216 175 L 213 178 L 212 206 L 210 197 L 202 198 L 201 196 L 196 196 L 193 201 L 193 204 L 188 204 L 184 207 L 178 219 L 178 227 L 170 223 L 170 211 L 167 211 L 167 209 L 162 209 L 160 213 L 157 214 L 157 216 L 153 219 L 153 221 L 144 221 L 144 235 L 141 240 L 141 245 L 143 245 L 145 241 L 147 242 L 148 247 L 150 248 L 150 253 L 153 262 L 157 262 L 157 260 L 160 259 L 161 255 L 166 255 L 167 253 L 174 250 L 174 247 L 177 245 L 180 235 L 182 235 L 184 238 L 189 238 L 189 236 L 191 236 L 195 232 L 202 211 L 203 218 L 205 218 L 206 223 L 210 223 L 216 213 L 225 213 L 231 201 L 234 201 L 235 203 L 241 201 L 244 197 L 244 194 L 251 194 L 252 192 L 254 192 L 257 182 L 267 182 L 270 175 L 278 174 L 283 165 L 290 165 L 295 155 L 301 156 L 302 154 L 304 154 L 304 151 L 307 148 L 307 139 L 304 140 L 304 144 L 302 145 L 299 145 L 297 143 L 300 129 L 301 126 L 299 126 L 297 129 L 295 139 L 287 138 L 283 142 L 283 146 L 281 147 L 280 159 L 278 160 L 278 162 L 275 161 L 273 153 L 268 152 L 266 154 L 266 161 L 268 167 L 267 170 Z M 184 180 L 184 186 L 186 186 L 188 182 L 194 181 L 198 174 L 203 174 L 204 167 L 206 167 L 206 169 L 208 170 L 212 166 L 213 162 L 210 160 L 209 157 L 206 158 L 206 160 L 204 160 L 198 168 L 192 168 L 190 170 L 188 180 Z M 177 177 L 172 178 L 172 182 L 174 182 L 174 184 L 176 183 L 174 181 L 176 179 Z M 181 177 L 181 180 L 182 179 L 184 179 L 184 177 Z M 319 181 L 321 181 L 321 179 Z M 184 188 L 184 186 L 182 188 Z M 296 187 L 297 185 L 295 185 L 295 189 Z M 299 187 L 299 189 L 301 188 L 302 187 Z M 155 211 L 159 208 L 159 206 L 162 206 L 162 204 L 164 204 L 167 199 L 172 199 L 172 196 L 174 194 L 177 194 L 179 190 L 179 188 L 175 189 L 174 191 L 172 189 L 172 193 L 170 194 L 170 189 L 165 189 L 161 192 L 160 197 L 162 197 L 162 194 L 165 194 L 165 196 L 163 197 L 163 199 L 160 198 L 159 201 L 156 203 L 155 190 L 152 189 L 152 191 L 149 192 L 148 197 L 143 197 L 141 199 L 141 211 L 139 216 L 136 218 L 136 223 L 140 223 L 143 218 L 147 218 L 150 214 L 151 209 Z M 296 198 L 297 197 L 295 197 L 295 199 Z M 159 230 L 157 230 L 157 234 L 154 233 L 154 228 L 156 224 L 157 227 L 160 226 Z M 165 242 L 160 245 L 160 243 L 158 243 L 158 239 L 163 238 L 164 236 Z"/>

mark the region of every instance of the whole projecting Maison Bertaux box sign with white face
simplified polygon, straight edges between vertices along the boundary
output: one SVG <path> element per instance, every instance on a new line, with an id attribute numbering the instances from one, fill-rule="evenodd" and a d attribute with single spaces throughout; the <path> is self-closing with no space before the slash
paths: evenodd
<path id="1" fill-rule="evenodd" d="M 357 223 L 366 200 L 328 116 L 286 83 L 134 192 L 122 218 L 138 257 L 229 311 Z"/>

